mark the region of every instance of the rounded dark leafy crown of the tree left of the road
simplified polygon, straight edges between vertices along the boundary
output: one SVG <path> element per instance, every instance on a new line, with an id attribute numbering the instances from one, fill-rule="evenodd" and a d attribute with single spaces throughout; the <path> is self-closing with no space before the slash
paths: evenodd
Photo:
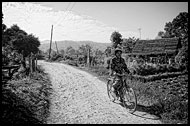
<path id="1" fill-rule="evenodd" d="M 14 53 L 23 54 L 25 59 L 31 52 L 36 54 L 39 51 L 40 42 L 38 38 L 32 34 L 28 35 L 15 24 L 4 31 L 3 37 L 5 41 L 3 42 L 3 47 L 7 55 L 14 55 Z"/>

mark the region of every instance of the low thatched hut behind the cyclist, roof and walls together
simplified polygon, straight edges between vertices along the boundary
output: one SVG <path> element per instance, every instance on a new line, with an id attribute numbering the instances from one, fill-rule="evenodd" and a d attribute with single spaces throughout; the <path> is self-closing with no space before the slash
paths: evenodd
<path id="1" fill-rule="evenodd" d="M 179 38 L 139 40 L 136 42 L 132 53 L 127 53 L 126 55 L 142 58 L 146 62 L 163 64 L 169 63 L 169 59 L 174 59 L 181 47 Z"/>

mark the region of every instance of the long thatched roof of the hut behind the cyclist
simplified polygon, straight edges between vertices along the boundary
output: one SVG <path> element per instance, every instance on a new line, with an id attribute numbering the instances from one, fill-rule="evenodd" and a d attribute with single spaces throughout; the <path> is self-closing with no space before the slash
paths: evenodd
<path id="1" fill-rule="evenodd" d="M 179 38 L 164 38 L 155 40 L 139 40 L 136 42 L 133 55 L 173 54 L 181 47 Z"/>

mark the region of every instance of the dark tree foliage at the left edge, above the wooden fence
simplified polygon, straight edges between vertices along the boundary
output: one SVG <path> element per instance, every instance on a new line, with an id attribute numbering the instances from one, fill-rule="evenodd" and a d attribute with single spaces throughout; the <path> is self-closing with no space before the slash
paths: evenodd
<path id="1" fill-rule="evenodd" d="M 3 13 L 2 13 L 3 21 Z M 18 25 L 14 24 L 7 28 L 2 22 L 2 64 L 18 62 L 31 54 L 37 54 L 40 42 L 37 37 L 28 34 Z M 15 61 L 16 60 L 16 61 Z"/>

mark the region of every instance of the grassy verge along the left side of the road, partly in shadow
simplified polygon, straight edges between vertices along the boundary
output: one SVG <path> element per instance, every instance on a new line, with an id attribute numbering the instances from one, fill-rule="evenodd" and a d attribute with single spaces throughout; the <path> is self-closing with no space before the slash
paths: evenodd
<path id="1" fill-rule="evenodd" d="M 42 68 L 30 77 L 2 86 L 3 124 L 45 124 L 49 114 L 51 82 Z"/>

